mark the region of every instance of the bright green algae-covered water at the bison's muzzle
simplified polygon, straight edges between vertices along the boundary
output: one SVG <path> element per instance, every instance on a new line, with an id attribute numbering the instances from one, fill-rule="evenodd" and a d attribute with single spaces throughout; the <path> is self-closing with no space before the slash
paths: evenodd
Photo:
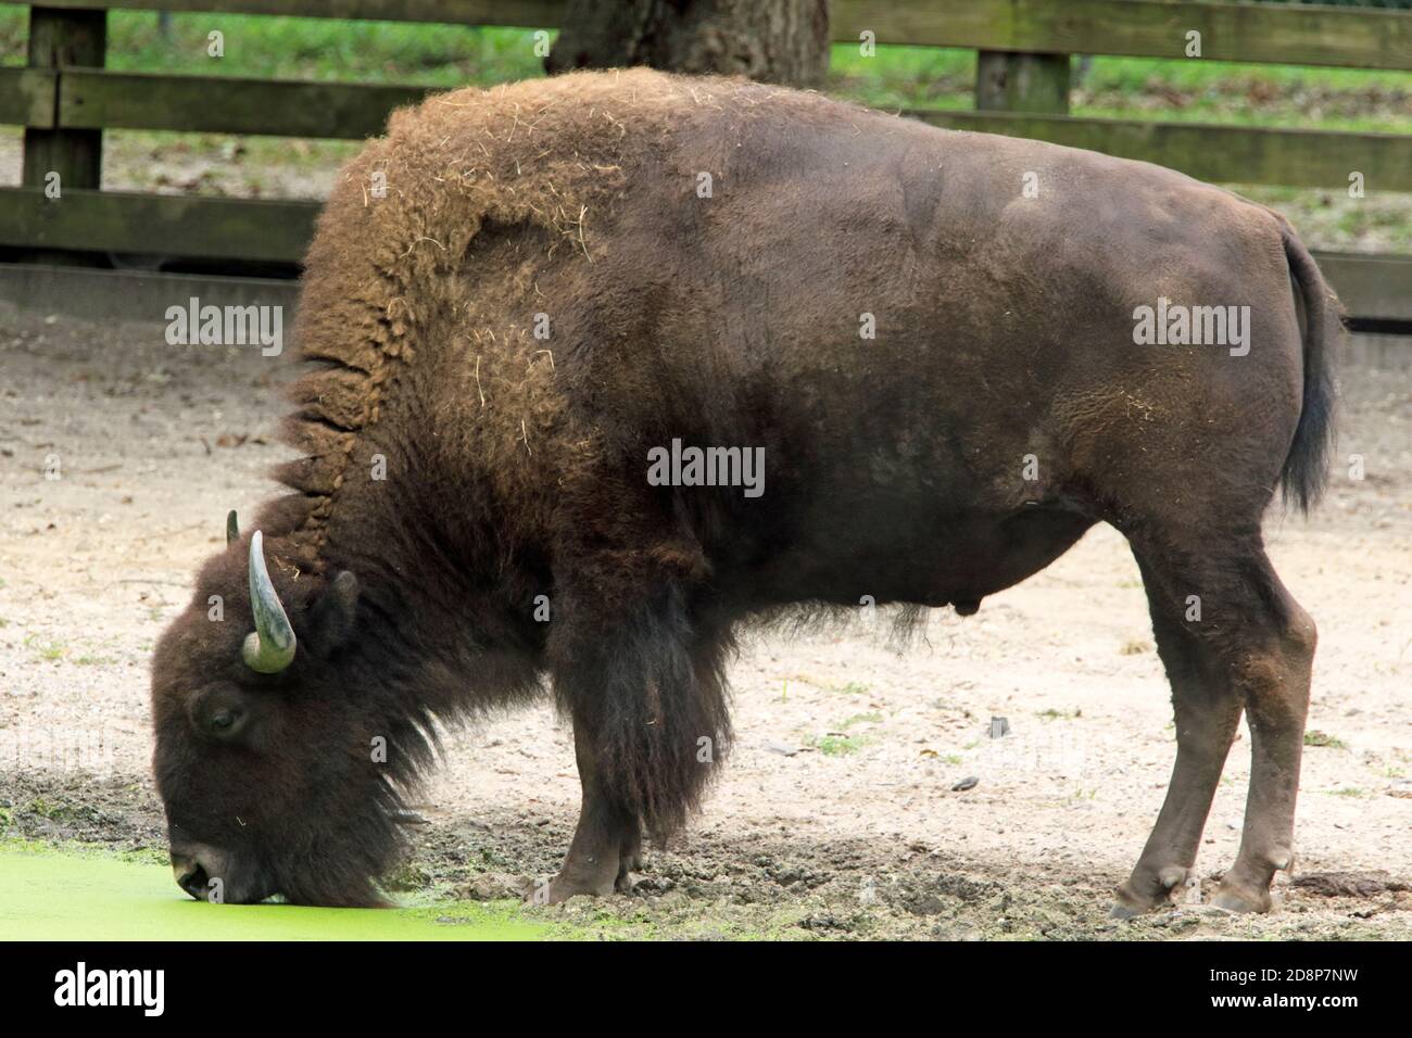
<path id="1" fill-rule="evenodd" d="M 525 941 L 546 929 L 479 902 L 210 905 L 160 864 L 0 845 L 0 941 Z"/>

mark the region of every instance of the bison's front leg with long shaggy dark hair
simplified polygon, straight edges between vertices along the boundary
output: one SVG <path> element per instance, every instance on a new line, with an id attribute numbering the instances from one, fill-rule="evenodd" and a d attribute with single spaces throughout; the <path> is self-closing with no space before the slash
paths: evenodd
<path id="1" fill-rule="evenodd" d="M 726 638 L 688 610 L 685 590 L 674 582 L 604 590 L 599 582 L 592 595 L 562 593 L 549 643 L 583 784 L 583 811 L 549 901 L 624 888 L 640 867 L 641 828 L 662 842 L 682 825 L 729 736 Z M 631 604 L 611 616 L 611 602 Z"/>

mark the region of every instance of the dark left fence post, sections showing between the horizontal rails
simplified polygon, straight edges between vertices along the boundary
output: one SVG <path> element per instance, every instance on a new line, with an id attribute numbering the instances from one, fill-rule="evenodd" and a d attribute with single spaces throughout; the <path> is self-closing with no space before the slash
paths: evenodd
<path id="1" fill-rule="evenodd" d="M 107 11 L 30 8 L 31 68 L 103 68 L 106 48 Z M 25 127 L 21 182 L 44 188 L 51 172 L 59 175 L 61 191 L 102 186 L 103 131 Z"/>

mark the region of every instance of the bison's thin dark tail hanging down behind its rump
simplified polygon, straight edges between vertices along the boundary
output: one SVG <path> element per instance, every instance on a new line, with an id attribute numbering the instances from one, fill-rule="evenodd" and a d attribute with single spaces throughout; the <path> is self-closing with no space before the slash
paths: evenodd
<path id="1" fill-rule="evenodd" d="M 1343 329 L 1343 312 L 1309 250 L 1284 222 L 1281 237 L 1289 277 L 1303 304 L 1305 397 L 1279 482 L 1285 503 L 1292 501 L 1308 513 L 1327 479 L 1334 410 L 1333 354 Z"/>

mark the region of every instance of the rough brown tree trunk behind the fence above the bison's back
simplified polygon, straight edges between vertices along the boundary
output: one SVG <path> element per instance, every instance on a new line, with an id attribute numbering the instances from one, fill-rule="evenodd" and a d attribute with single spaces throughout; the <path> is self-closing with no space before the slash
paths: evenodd
<path id="1" fill-rule="evenodd" d="M 626 65 L 819 88 L 829 0 L 569 0 L 545 71 Z"/>

